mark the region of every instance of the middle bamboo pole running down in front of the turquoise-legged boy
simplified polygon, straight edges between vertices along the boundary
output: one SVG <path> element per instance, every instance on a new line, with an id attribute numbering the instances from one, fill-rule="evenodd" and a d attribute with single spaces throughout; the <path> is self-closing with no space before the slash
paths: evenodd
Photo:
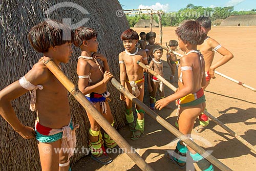
<path id="1" fill-rule="evenodd" d="M 177 130 L 173 125 L 171 125 L 169 122 L 164 120 L 162 117 L 160 117 L 156 112 L 152 111 L 150 108 L 148 108 L 147 105 L 145 105 L 143 102 L 141 102 L 138 98 L 136 98 L 132 93 L 127 91 L 121 84 L 115 79 L 111 79 L 111 83 L 113 86 L 123 93 L 127 98 L 132 100 L 136 105 L 140 106 L 150 117 L 152 117 L 154 120 L 156 120 L 158 123 L 160 123 L 163 127 L 165 127 L 166 130 L 173 133 L 176 137 L 181 139 L 183 142 L 185 142 L 188 146 L 193 148 L 197 153 L 202 155 L 205 159 L 207 159 L 209 162 L 220 168 L 221 170 L 231 170 L 229 167 L 224 165 L 222 162 L 220 162 L 218 159 L 216 159 L 214 156 L 210 155 L 207 151 L 205 151 L 201 146 L 197 145 L 194 141 L 191 141 L 187 136 L 182 134 L 179 130 Z"/>

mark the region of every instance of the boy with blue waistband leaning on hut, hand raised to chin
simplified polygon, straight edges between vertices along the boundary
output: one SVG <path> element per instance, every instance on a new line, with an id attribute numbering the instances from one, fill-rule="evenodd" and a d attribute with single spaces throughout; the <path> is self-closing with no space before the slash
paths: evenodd
<path id="1" fill-rule="evenodd" d="M 108 103 L 110 93 L 106 91 L 106 84 L 113 78 L 113 75 L 106 57 L 97 53 L 99 46 L 97 35 L 98 33 L 91 28 L 79 27 L 75 30 L 74 45 L 81 49 L 77 62 L 78 89 L 113 126 L 114 118 Z M 99 65 L 98 60 L 103 62 L 103 66 Z M 91 158 L 101 164 L 109 164 L 112 159 L 106 154 L 103 142 L 108 148 L 113 148 L 117 144 L 105 132 L 102 139 L 100 125 L 89 111 L 87 111 L 87 116 L 91 124 L 89 129 Z"/>

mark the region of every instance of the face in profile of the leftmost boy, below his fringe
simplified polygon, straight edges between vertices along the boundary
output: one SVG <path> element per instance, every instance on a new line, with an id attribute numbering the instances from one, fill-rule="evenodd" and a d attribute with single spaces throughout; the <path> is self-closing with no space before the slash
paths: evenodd
<path id="1" fill-rule="evenodd" d="M 56 46 L 56 52 L 58 54 L 58 58 L 56 59 L 59 62 L 68 63 L 73 53 L 71 42 L 66 42 L 66 44 Z"/>

